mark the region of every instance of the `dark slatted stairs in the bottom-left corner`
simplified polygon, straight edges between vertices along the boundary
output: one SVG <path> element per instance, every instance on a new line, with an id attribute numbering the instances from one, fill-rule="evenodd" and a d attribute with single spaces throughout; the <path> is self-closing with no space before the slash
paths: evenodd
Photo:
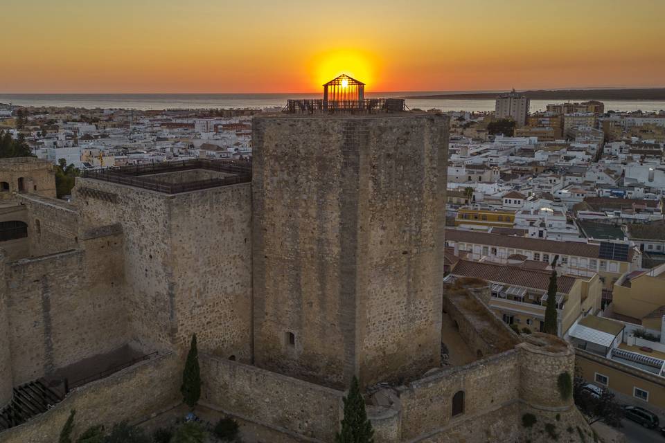
<path id="1" fill-rule="evenodd" d="M 28 419 L 45 413 L 64 398 L 64 393 L 47 386 L 44 379 L 30 381 L 14 388 L 10 404 L 0 409 L 0 432 L 27 422 Z"/>

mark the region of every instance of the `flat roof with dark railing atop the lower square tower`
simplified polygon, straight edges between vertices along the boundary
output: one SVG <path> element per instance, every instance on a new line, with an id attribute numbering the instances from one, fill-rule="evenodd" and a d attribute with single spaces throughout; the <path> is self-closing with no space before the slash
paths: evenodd
<path id="1" fill-rule="evenodd" d="M 251 162 L 195 159 L 84 170 L 83 177 L 164 194 L 249 183 Z"/>

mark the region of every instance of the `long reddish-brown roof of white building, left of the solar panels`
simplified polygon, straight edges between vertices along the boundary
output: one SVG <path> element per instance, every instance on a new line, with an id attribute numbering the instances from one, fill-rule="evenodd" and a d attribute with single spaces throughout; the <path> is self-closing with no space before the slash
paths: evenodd
<path id="1" fill-rule="evenodd" d="M 457 229 L 446 229 L 445 239 L 453 242 L 468 242 L 499 246 L 511 249 L 524 249 L 560 255 L 577 255 L 578 257 L 598 258 L 600 246 L 582 242 L 557 242 L 530 237 L 513 237 L 511 235 L 488 234 Z M 628 260 L 632 260 L 632 249 L 628 253 Z M 552 257 L 553 258 L 553 257 Z"/>

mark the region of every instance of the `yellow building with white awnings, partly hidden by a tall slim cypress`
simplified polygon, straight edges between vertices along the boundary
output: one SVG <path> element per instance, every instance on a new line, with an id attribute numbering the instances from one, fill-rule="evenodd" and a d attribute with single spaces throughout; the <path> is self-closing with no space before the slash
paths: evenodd
<path id="1" fill-rule="evenodd" d="M 459 260 L 452 268 L 455 277 L 486 280 L 491 287 L 490 308 L 520 331 L 542 332 L 547 307 L 551 269 L 542 263 L 496 264 Z M 597 274 L 585 278 L 559 275 L 557 279 L 559 336 L 564 336 L 580 316 L 601 307 L 603 284 Z"/>

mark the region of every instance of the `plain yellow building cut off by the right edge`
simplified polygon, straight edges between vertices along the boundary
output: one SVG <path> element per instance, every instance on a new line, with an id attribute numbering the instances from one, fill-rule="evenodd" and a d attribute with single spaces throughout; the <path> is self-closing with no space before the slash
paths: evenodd
<path id="1" fill-rule="evenodd" d="M 641 320 L 648 329 L 660 329 L 665 311 L 665 264 L 650 271 L 625 273 L 614 283 L 612 307 L 615 314 Z"/>

